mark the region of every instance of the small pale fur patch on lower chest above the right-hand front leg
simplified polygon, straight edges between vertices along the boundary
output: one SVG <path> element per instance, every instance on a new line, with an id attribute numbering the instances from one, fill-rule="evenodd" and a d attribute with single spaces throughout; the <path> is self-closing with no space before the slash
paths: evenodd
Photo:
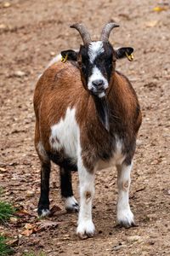
<path id="1" fill-rule="evenodd" d="M 111 166 L 121 165 L 126 155 L 122 154 L 122 141 L 116 137 L 116 148 L 113 157 L 109 161 L 99 160 L 96 170 L 109 168 Z"/>

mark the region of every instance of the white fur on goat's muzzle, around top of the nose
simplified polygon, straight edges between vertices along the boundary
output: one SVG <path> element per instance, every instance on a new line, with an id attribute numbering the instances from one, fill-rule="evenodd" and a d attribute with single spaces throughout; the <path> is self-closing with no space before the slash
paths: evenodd
<path id="1" fill-rule="evenodd" d="M 104 90 L 106 90 L 108 88 L 108 81 L 105 79 L 105 77 L 103 76 L 103 74 L 100 72 L 99 68 L 94 66 L 93 70 L 92 70 L 92 74 L 91 76 L 88 78 L 88 90 L 92 90 L 92 88 L 94 88 L 93 85 L 93 81 L 94 80 L 103 80 L 104 82 Z M 95 90 L 96 88 L 94 88 Z"/>

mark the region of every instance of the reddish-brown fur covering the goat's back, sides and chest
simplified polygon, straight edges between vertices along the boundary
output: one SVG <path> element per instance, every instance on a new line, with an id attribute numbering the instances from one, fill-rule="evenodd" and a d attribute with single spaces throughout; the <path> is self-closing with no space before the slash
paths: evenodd
<path id="1" fill-rule="evenodd" d="M 79 69 L 70 61 L 48 67 L 38 80 L 34 95 L 35 144 L 41 140 L 45 150 L 50 152 L 50 127 L 59 122 L 68 107 L 74 106 L 80 127 L 82 160 L 88 171 L 93 171 L 97 160 L 111 157 L 115 134 L 123 140 L 128 163 L 133 158 L 141 113 L 133 87 L 121 73 L 113 73 L 107 99 L 111 109 L 110 132 L 99 122 L 93 96 L 82 86 Z"/>

